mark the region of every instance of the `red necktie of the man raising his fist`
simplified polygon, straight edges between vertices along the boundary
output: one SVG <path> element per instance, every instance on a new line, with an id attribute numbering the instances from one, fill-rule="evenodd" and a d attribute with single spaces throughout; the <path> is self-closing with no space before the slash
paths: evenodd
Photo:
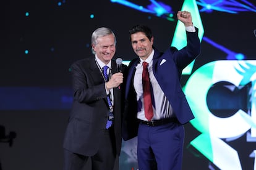
<path id="1" fill-rule="evenodd" d="M 150 94 L 150 79 L 148 73 L 148 63 L 143 62 L 143 71 L 142 71 L 142 86 L 143 86 L 143 98 L 144 98 L 144 110 L 145 116 L 148 120 L 153 117 L 153 107 Z"/>

